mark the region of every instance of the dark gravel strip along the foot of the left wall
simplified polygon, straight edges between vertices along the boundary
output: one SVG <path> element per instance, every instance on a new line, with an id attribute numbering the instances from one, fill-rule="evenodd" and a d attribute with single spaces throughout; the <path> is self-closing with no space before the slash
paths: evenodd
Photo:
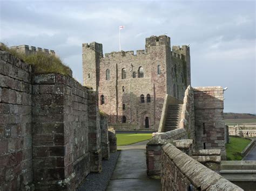
<path id="1" fill-rule="evenodd" d="M 120 151 L 111 153 L 109 160 L 102 160 L 102 172 L 88 174 L 85 181 L 78 187 L 77 190 L 104 191 L 114 171 L 119 154 Z"/>

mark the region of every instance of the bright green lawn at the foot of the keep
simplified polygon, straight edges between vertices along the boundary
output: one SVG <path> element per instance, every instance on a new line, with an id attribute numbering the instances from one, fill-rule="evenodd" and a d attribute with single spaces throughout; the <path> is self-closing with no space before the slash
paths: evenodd
<path id="1" fill-rule="evenodd" d="M 142 142 L 152 137 L 152 133 L 118 133 L 117 146 L 130 145 Z"/>

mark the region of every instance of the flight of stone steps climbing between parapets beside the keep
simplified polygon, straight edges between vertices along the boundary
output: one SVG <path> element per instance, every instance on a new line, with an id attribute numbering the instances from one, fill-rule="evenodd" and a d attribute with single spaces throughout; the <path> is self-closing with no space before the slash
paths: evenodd
<path id="1" fill-rule="evenodd" d="M 165 119 L 164 132 L 179 129 L 182 104 L 169 105 Z"/>

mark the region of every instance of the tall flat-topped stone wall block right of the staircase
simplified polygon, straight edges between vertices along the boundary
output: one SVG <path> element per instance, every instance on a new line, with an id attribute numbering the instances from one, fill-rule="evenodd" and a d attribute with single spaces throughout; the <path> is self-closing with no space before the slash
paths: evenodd
<path id="1" fill-rule="evenodd" d="M 220 148 L 225 159 L 223 88 L 198 87 L 193 90 L 197 150 Z"/>

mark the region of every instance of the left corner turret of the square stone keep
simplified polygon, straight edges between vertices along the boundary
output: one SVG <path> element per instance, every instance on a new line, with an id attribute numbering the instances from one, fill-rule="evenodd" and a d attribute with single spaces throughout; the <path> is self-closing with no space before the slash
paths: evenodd
<path id="1" fill-rule="evenodd" d="M 99 87 L 99 63 L 102 57 L 102 44 L 96 42 L 83 44 L 83 84 L 96 91 Z"/>

